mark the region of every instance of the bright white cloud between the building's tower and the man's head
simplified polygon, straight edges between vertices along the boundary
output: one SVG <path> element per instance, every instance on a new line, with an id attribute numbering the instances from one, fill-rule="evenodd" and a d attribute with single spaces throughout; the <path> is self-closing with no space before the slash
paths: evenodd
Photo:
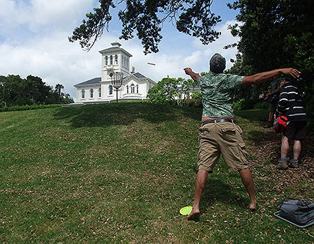
<path id="1" fill-rule="evenodd" d="M 183 70 L 186 67 L 193 68 L 197 73 L 207 71 L 209 70 L 209 59 L 216 52 L 219 52 L 225 57 L 227 68 L 230 68 L 232 66 L 230 59 L 235 59 L 237 48 L 223 49 L 223 47 L 239 40 L 238 38 L 234 38 L 230 30 L 227 29 L 230 24 L 234 23 L 235 21 L 228 21 L 225 24 L 218 25 L 216 29 L 221 32 L 221 36 L 209 45 L 202 45 L 200 40 L 195 38 L 184 37 L 186 39 L 184 42 L 173 47 L 175 53 L 172 52 L 171 47 L 168 47 L 165 48 L 165 51 L 145 56 L 140 43 L 134 40 L 126 42 L 122 47 L 133 54 L 131 65 L 135 66 L 137 71 L 147 77 L 151 77 L 155 81 L 159 81 L 163 77 L 167 77 L 167 75 L 170 75 L 170 77 L 186 77 Z M 176 34 L 182 35 L 177 32 L 170 33 L 172 36 Z M 165 44 L 160 43 L 160 45 Z M 178 52 L 178 49 L 180 52 Z M 156 63 L 156 66 L 149 66 L 147 62 Z"/>

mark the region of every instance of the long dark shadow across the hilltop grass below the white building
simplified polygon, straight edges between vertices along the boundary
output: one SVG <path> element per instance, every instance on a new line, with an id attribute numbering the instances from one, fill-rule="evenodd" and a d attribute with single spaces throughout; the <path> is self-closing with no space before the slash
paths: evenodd
<path id="1" fill-rule="evenodd" d="M 62 107 L 54 114 L 57 120 L 66 120 L 74 128 L 129 125 L 137 119 L 150 123 L 176 121 L 186 116 L 200 120 L 202 109 L 156 105 L 144 102 L 120 102 L 100 105 Z"/>

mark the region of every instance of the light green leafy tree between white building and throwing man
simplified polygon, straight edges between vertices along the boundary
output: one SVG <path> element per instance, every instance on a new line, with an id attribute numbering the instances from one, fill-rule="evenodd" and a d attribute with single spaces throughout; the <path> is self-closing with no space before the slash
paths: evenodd
<path id="1" fill-rule="evenodd" d="M 149 102 L 170 105 L 183 105 L 194 92 L 197 82 L 193 79 L 163 78 L 160 82 L 149 89 L 147 98 Z"/>

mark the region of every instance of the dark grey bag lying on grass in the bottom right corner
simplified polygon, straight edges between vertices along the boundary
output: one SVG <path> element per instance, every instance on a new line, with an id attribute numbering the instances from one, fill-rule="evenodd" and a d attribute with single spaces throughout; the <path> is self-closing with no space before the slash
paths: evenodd
<path id="1" fill-rule="evenodd" d="M 285 199 L 291 198 L 285 197 Z M 277 205 L 283 204 L 281 211 L 275 213 L 276 217 L 300 228 L 314 224 L 314 204 L 311 201 L 293 199 L 292 201 L 285 202 L 285 199 Z"/>

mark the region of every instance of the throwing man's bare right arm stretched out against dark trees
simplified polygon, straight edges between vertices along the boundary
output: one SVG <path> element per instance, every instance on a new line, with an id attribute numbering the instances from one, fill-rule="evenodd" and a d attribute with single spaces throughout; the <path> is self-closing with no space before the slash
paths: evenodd
<path id="1" fill-rule="evenodd" d="M 300 76 L 299 74 L 299 70 L 296 70 L 295 68 L 278 68 L 277 70 L 246 76 L 243 78 L 241 86 L 261 84 L 263 82 L 267 82 L 269 79 L 277 78 L 280 75 L 292 75 L 294 78 L 296 78 Z"/>

